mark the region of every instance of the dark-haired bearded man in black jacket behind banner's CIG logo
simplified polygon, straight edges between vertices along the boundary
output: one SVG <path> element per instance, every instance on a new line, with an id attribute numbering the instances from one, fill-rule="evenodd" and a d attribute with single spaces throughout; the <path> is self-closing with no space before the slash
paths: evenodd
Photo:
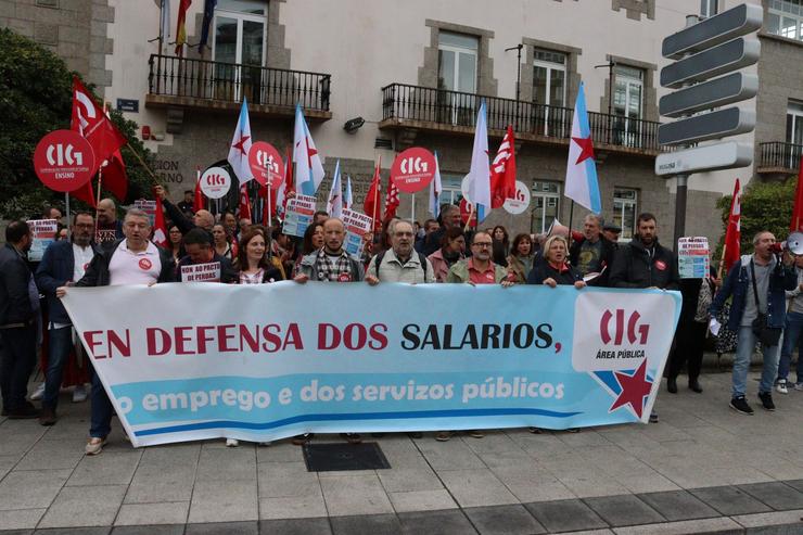
<path id="1" fill-rule="evenodd" d="M 675 253 L 658 243 L 655 216 L 649 212 L 638 216 L 636 237 L 627 245 L 619 247 L 613 258 L 609 278 L 611 288 L 660 288 L 677 290 Z M 658 422 L 653 410 L 651 422 Z"/>

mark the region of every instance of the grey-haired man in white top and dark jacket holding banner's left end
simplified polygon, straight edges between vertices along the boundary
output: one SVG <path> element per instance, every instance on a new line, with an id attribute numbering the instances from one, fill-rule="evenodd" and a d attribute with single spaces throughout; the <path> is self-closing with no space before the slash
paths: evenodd
<path id="1" fill-rule="evenodd" d="M 123 220 L 124 240 L 103 249 L 89 263 L 86 273 L 76 286 L 109 286 L 118 284 L 155 284 L 173 282 L 176 266 L 173 255 L 148 241 L 151 224 L 148 214 L 131 208 Z M 72 284 L 68 284 L 72 285 Z M 67 286 L 55 291 L 58 297 L 67 293 Z M 90 357 L 93 357 L 90 355 Z M 112 431 L 112 402 L 109 399 L 98 373 L 92 372 L 92 417 L 87 455 L 98 455 L 103 449 L 106 436 Z"/>

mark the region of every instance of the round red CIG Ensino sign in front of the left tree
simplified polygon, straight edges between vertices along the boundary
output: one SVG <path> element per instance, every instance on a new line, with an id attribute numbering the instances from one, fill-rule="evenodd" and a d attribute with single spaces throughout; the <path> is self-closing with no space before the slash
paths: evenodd
<path id="1" fill-rule="evenodd" d="M 36 176 L 53 191 L 77 190 L 92 178 L 94 168 L 92 145 L 73 130 L 53 130 L 34 151 Z"/>

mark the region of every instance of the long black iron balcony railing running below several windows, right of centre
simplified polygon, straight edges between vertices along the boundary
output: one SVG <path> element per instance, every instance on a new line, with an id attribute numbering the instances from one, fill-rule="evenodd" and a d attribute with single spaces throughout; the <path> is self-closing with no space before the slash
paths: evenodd
<path id="1" fill-rule="evenodd" d="M 485 100 L 489 129 L 504 130 L 513 125 L 517 135 L 563 139 L 572 131 L 574 111 L 569 107 L 405 84 L 382 88 L 382 118 L 473 127 L 482 99 Z M 597 144 L 659 150 L 659 123 L 595 112 L 588 113 L 588 123 Z"/>

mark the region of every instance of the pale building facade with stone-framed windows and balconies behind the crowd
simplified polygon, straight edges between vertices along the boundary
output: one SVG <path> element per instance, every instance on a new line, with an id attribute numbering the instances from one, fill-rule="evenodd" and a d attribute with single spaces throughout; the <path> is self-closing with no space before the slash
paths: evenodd
<path id="1" fill-rule="evenodd" d="M 765 12 L 780 1 L 764 0 Z M 0 0 L 0 26 L 56 51 L 112 105 L 136 104 L 127 116 L 150 130 L 155 170 L 174 198 L 193 187 L 197 168 L 226 158 L 246 97 L 253 138 L 281 152 L 292 143 L 299 100 L 328 177 L 340 161 L 359 204 L 374 163 L 381 158 L 386 179 L 395 155 L 413 145 L 438 152 L 445 198 L 458 200 L 470 167 L 473 113 L 485 98 L 490 156 L 506 124 L 514 124 L 518 178 L 533 201 L 522 215 L 494 211 L 482 226 L 539 232 L 553 217 L 570 217 L 562 195 L 566 128 L 583 81 L 603 216 L 623 224 L 627 237 L 635 215 L 652 212 L 671 240 L 674 180 L 653 173 L 658 100 L 666 93 L 658 86 L 667 64 L 660 48 L 663 37 L 684 27 L 686 14 L 700 12 L 699 0 L 218 0 L 208 48 L 187 47 L 182 59 L 170 44 L 160 54 L 158 3 Z M 171 3 L 175 34 L 179 2 Z M 722 11 L 737 1 L 706 9 L 712 3 Z M 193 46 L 203 7 L 193 2 L 188 13 Z M 762 35 L 755 140 L 783 141 L 785 107 L 789 99 L 803 102 L 803 74 L 779 66 L 800 64 L 795 54 L 803 48 L 796 39 Z M 170 35 L 166 42 L 174 40 Z M 362 127 L 346 131 L 344 123 L 356 117 Z M 756 142 L 756 162 L 761 157 Z M 757 168 L 693 175 L 686 233 L 717 240 L 716 201 L 730 193 L 735 178 L 763 176 Z M 328 189 L 329 178 L 318 193 L 321 205 Z M 426 191 L 416 194 L 415 213 L 411 196 L 400 196 L 399 215 L 431 217 Z M 575 228 L 584 214 L 575 207 Z"/>

